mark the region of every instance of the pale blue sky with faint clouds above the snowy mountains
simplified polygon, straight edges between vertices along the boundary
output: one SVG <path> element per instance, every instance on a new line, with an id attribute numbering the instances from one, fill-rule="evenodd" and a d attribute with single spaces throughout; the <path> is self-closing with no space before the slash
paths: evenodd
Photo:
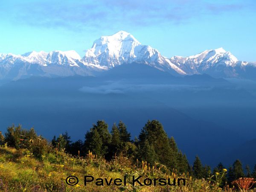
<path id="1" fill-rule="evenodd" d="M 1 0 L 0 52 L 76 50 L 124 30 L 162 55 L 223 47 L 256 61 L 256 0 Z"/>

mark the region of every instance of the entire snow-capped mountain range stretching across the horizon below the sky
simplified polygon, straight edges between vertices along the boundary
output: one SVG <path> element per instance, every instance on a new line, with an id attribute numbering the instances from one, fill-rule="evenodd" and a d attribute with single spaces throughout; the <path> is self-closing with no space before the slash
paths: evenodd
<path id="1" fill-rule="evenodd" d="M 119 31 L 94 41 L 84 57 L 75 51 L 0 54 L 0 80 L 30 76 L 95 76 L 122 64 L 140 63 L 173 76 L 208 74 L 216 78 L 255 79 L 256 63 L 239 61 L 223 48 L 188 57 L 166 58 L 157 49 L 143 45 L 128 32 Z"/>

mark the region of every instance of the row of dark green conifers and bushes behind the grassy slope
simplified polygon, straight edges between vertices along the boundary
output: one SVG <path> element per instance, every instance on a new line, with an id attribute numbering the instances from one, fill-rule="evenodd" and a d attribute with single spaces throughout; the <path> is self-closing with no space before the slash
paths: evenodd
<path id="1" fill-rule="evenodd" d="M 72 142 L 66 131 L 58 137 L 54 136 L 50 144 L 46 139 L 38 136 L 34 128 L 26 130 L 20 125 L 17 127 L 12 125 L 7 128 L 5 136 L 0 132 L 0 145 L 8 145 L 17 149 L 27 148 L 38 159 L 49 148 L 65 150 L 74 156 L 85 156 L 88 151 L 91 151 L 106 160 L 122 155 L 134 160 L 134 163 L 137 160 L 147 161 L 150 165 L 160 163 L 177 173 L 189 172 L 196 178 L 209 178 L 212 174 L 219 174 L 223 170 L 227 170 L 227 174 L 221 180 L 221 186 L 231 184 L 233 180 L 240 177 L 256 179 L 256 165 L 252 172 L 249 166 L 246 166 L 244 170 L 239 160 L 236 160 L 228 169 L 219 163 L 213 172 L 210 166 L 201 163 L 198 156 L 190 165 L 186 155 L 178 149 L 174 138 L 167 136 L 163 125 L 157 120 L 148 120 L 140 131 L 139 137 L 135 137 L 134 140 L 131 140 L 131 134 L 122 121 L 119 121 L 118 124 L 114 123 L 109 132 L 108 124 L 104 120 L 99 120 L 93 124 L 90 131 L 87 131 L 84 141 Z"/>

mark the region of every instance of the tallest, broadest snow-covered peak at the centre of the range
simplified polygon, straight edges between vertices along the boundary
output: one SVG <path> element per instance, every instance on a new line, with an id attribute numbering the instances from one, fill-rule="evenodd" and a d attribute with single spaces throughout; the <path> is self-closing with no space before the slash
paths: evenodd
<path id="1" fill-rule="evenodd" d="M 92 48 L 82 58 L 86 64 L 98 64 L 112 68 L 132 62 L 145 63 L 159 70 L 184 74 L 169 59 L 163 57 L 157 49 L 143 45 L 128 32 L 119 31 L 110 36 L 102 36 L 94 41 Z"/>

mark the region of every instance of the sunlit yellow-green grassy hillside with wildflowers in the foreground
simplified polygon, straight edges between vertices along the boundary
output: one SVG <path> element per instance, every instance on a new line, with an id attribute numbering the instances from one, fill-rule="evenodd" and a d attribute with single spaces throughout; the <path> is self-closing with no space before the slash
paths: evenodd
<path id="1" fill-rule="evenodd" d="M 223 172 L 225 174 L 225 172 Z M 66 178 L 74 175 L 79 178 L 76 186 L 69 186 Z M 84 186 L 84 175 L 92 175 L 96 178 L 124 178 L 127 177 L 126 186 L 116 186 L 111 183 L 107 186 L 96 186 L 94 182 L 87 183 Z M 140 186 L 136 183 L 132 185 L 132 176 L 138 177 L 143 182 L 144 178 L 176 178 L 176 186 Z M 41 160 L 36 159 L 27 149 L 16 150 L 7 146 L 0 147 L 0 191 L 3 192 L 71 192 L 71 191 L 144 191 L 144 192 L 206 192 L 222 191 L 218 187 L 218 181 L 222 173 L 214 175 L 211 180 L 195 179 L 188 173 L 176 175 L 175 170 L 169 171 L 166 166 L 155 164 L 148 165 L 146 162 L 137 162 L 132 164 L 131 161 L 123 157 L 114 157 L 107 162 L 103 158 L 98 158 L 92 153 L 86 157 L 72 157 L 64 151 L 52 151 L 44 156 Z M 217 179 L 216 179 L 217 177 Z M 180 186 L 177 186 L 177 178 L 184 178 Z M 71 180 L 73 182 L 73 180 Z M 225 191 L 233 191 L 226 189 Z"/>

